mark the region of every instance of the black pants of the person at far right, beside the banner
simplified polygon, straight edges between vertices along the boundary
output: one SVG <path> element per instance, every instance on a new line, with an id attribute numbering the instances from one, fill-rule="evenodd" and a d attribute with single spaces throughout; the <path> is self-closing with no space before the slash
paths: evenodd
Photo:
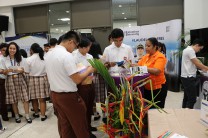
<path id="1" fill-rule="evenodd" d="M 182 108 L 193 109 L 197 98 L 197 79 L 195 77 L 190 77 L 190 78 L 181 77 L 181 82 L 184 87 Z"/>

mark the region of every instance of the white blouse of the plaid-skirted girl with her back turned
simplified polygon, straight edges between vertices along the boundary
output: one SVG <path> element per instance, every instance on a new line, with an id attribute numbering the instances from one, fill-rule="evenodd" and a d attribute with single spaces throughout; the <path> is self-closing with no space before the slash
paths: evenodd
<path id="1" fill-rule="evenodd" d="M 26 70 L 29 76 L 45 76 L 45 61 L 41 60 L 38 53 L 34 53 L 26 59 Z M 27 69 L 28 68 L 28 69 Z"/>

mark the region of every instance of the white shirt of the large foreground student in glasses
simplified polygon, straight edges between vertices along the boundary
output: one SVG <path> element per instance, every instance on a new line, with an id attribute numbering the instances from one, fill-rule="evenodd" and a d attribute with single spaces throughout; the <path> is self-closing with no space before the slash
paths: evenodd
<path id="1" fill-rule="evenodd" d="M 77 85 L 70 78 L 77 73 L 74 57 L 65 47 L 57 45 L 45 58 L 46 73 L 51 91 L 76 92 Z"/>

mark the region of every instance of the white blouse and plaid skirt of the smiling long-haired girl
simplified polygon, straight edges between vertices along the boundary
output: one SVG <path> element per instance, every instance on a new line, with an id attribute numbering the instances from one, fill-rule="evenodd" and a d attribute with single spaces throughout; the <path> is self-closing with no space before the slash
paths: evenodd
<path id="1" fill-rule="evenodd" d="M 17 63 L 15 59 L 10 59 L 9 56 L 2 60 L 3 69 L 9 69 L 12 66 L 23 67 L 25 66 L 25 61 L 22 58 L 20 63 Z M 6 89 L 6 104 L 17 103 L 19 100 L 22 102 L 29 101 L 29 95 L 27 92 L 27 84 L 25 82 L 22 73 L 9 72 L 5 80 Z"/>

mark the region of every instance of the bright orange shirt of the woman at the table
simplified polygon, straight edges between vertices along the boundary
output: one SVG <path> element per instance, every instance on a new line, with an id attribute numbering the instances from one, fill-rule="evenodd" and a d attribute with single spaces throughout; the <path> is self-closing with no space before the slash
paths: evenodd
<path id="1" fill-rule="evenodd" d="M 162 84 L 165 84 L 165 65 L 166 58 L 164 54 L 157 51 L 153 55 L 146 54 L 142 57 L 142 59 L 138 62 L 139 66 L 147 66 L 148 68 L 156 68 L 160 70 L 160 74 L 153 75 L 150 74 L 150 79 L 152 80 L 153 90 L 162 88 Z M 150 84 L 146 84 L 145 88 L 150 90 Z"/>

